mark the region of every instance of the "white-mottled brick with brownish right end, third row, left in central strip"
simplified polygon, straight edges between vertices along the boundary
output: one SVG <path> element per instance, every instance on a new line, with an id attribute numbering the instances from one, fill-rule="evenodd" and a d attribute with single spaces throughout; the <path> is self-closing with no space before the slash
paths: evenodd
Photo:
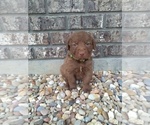
<path id="1" fill-rule="evenodd" d="M 50 38 L 48 33 L 29 33 L 28 34 L 29 45 L 48 45 L 50 44 Z"/>

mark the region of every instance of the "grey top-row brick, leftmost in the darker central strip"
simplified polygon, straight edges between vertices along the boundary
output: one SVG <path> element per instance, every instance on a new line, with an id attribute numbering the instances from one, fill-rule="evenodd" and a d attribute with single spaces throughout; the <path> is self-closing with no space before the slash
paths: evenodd
<path id="1" fill-rule="evenodd" d="M 29 0 L 29 13 L 45 13 L 45 0 Z"/>

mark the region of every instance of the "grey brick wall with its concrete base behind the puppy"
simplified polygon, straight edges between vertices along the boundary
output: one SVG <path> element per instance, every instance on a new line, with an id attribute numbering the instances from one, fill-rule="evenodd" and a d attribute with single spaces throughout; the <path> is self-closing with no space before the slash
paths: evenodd
<path id="1" fill-rule="evenodd" d="M 65 42 L 79 30 L 96 40 L 95 70 L 140 70 L 137 62 L 149 70 L 149 6 L 149 0 L 1 0 L 1 72 L 22 61 L 28 73 L 58 73 Z"/>

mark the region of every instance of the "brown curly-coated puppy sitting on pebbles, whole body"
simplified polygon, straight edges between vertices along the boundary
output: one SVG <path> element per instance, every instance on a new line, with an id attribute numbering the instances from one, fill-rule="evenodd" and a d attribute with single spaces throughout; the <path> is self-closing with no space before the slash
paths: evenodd
<path id="1" fill-rule="evenodd" d="M 68 53 L 61 66 L 61 74 L 69 89 L 76 88 L 76 80 L 83 82 L 83 91 L 91 91 L 89 85 L 93 74 L 92 50 L 95 41 L 90 34 L 80 31 L 73 33 L 67 42 Z"/>

